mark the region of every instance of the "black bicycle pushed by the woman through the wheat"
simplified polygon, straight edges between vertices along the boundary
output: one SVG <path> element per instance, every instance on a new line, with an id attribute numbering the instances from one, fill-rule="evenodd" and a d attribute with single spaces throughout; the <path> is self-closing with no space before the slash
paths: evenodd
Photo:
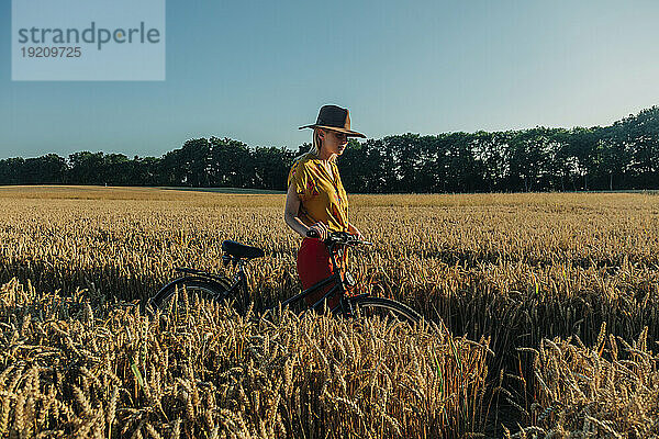
<path id="1" fill-rule="evenodd" d="M 308 236 L 311 238 L 319 238 L 315 230 L 310 230 Z M 320 289 L 333 284 L 317 302 L 311 305 L 311 309 L 321 311 L 333 294 L 339 294 L 338 305 L 331 309 L 333 314 L 346 317 L 357 315 L 380 316 L 381 318 L 395 318 L 410 324 L 418 323 L 422 319 L 421 315 L 414 309 L 391 299 L 375 297 L 370 296 L 369 293 L 357 295 L 348 294 L 348 292 L 353 291 L 357 285 L 357 282 L 348 271 L 340 269 L 337 263 L 337 257 L 343 257 L 343 252 L 349 247 L 371 245 L 371 243 L 360 240 L 354 235 L 345 232 L 331 233 L 324 243 L 327 246 L 331 256 L 333 267 L 332 274 L 293 297 L 281 302 L 281 307 L 302 301 L 310 294 L 317 292 Z M 241 290 L 244 293 L 248 293 L 247 263 L 253 259 L 265 256 L 264 250 L 234 240 L 224 240 L 222 243 L 222 251 L 224 266 L 226 267 L 232 263 L 232 267 L 235 269 L 233 281 L 226 277 L 205 271 L 185 267 L 177 268 L 177 271 L 186 273 L 187 275 L 175 279 L 164 285 L 158 293 L 149 300 L 149 305 L 154 309 L 160 309 L 160 312 L 170 309 L 174 305 L 174 299 L 179 297 L 179 293 L 182 293 L 183 288 L 185 291 L 187 291 L 188 296 L 190 296 L 190 294 L 198 294 L 201 297 L 213 301 L 227 301 L 237 296 Z M 186 297 L 183 297 L 183 300 L 186 300 Z M 190 303 L 189 300 L 188 303 Z"/>

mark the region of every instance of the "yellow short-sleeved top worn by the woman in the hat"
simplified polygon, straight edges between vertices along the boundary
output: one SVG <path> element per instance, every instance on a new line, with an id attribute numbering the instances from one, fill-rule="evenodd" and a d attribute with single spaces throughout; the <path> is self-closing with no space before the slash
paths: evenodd
<path id="1" fill-rule="evenodd" d="M 332 173 L 321 159 L 306 153 L 293 164 L 288 185 L 294 184 L 302 202 L 298 215 L 309 226 L 322 222 L 334 232 L 348 232 L 348 196 L 340 182 L 338 168 L 330 161 Z"/>

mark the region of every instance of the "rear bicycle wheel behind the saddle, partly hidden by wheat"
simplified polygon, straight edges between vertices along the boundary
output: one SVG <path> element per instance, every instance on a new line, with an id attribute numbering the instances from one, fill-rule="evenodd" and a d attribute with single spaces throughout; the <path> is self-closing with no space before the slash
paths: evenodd
<path id="1" fill-rule="evenodd" d="M 191 303 L 194 295 L 204 300 L 223 301 L 228 296 L 230 289 L 231 283 L 227 279 L 208 280 L 203 278 L 186 277 L 177 279 L 164 286 L 149 301 L 149 304 L 164 313 L 172 305 L 171 301 L 174 300 L 177 290 L 178 294 L 182 294 L 183 291 L 186 291 L 188 294 L 188 303 Z M 182 303 L 185 297 L 179 296 L 178 302 Z"/>

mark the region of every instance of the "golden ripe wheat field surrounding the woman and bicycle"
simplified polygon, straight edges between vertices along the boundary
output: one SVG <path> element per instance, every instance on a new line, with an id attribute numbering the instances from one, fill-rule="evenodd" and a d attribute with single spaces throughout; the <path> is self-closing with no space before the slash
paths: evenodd
<path id="1" fill-rule="evenodd" d="M 260 315 L 299 291 L 283 195 L 0 188 L 2 437 L 659 435 L 659 196 L 351 195 L 350 271 L 411 328 Z M 261 247 L 255 318 L 139 303 Z M 180 319 L 179 319 L 180 318 Z"/>

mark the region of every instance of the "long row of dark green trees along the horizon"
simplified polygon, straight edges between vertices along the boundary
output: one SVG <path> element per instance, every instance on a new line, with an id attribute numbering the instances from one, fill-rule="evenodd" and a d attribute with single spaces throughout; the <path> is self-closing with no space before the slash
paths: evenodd
<path id="1" fill-rule="evenodd" d="M 80 151 L 0 160 L 0 184 L 108 184 L 286 190 L 306 151 L 194 138 L 161 157 Z M 403 134 L 357 142 L 338 159 L 348 192 L 659 189 L 659 106 L 610 126 Z"/>

